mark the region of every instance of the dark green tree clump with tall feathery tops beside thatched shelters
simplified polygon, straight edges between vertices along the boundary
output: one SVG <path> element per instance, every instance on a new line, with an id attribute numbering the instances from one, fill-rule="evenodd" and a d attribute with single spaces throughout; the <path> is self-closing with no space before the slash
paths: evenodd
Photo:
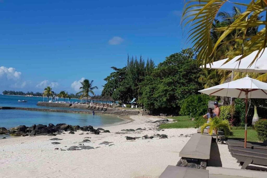
<path id="1" fill-rule="evenodd" d="M 124 68 L 111 67 L 112 72 L 104 80 L 107 82 L 102 90 L 102 96 L 112 97 L 113 100 L 127 103 L 133 98 L 139 98 L 139 84 L 145 76 L 152 73 L 155 68 L 154 62 L 150 59 L 145 62 L 140 56 L 127 58 L 127 66 Z"/>

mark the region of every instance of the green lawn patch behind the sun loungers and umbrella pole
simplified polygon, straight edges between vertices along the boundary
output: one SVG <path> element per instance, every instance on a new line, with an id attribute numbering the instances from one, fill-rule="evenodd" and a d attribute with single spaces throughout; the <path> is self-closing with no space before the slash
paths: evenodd
<path id="1" fill-rule="evenodd" d="M 228 138 L 245 138 L 245 129 L 231 130 L 231 132 L 233 132 L 233 135 L 228 136 Z M 247 140 L 259 141 L 256 130 L 248 129 Z"/>

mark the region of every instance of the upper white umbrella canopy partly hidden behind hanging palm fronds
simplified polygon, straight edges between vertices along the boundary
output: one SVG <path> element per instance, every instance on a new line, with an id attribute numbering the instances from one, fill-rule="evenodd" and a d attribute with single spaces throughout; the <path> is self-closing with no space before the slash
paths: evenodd
<path id="1" fill-rule="evenodd" d="M 254 60 L 255 56 L 257 55 L 258 50 L 252 52 L 248 56 L 244 57 L 241 61 L 236 61 L 240 56 L 235 56 L 232 60 L 225 63 L 227 59 L 219 60 L 216 62 L 213 62 L 212 64 L 207 64 L 206 68 L 208 69 L 221 69 L 221 70 L 231 70 L 231 71 L 237 71 L 237 72 L 257 72 L 257 73 L 267 73 L 267 48 L 265 48 L 264 52 L 260 52 L 260 55 L 258 56 L 257 60 L 253 62 L 253 64 L 249 67 L 251 62 Z M 240 62 L 240 64 L 239 64 Z M 204 68 L 205 65 L 202 65 L 201 68 Z"/>

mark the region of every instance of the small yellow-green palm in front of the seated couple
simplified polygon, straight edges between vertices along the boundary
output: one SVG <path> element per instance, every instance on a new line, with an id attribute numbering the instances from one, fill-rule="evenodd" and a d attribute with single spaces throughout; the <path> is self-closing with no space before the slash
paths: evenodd
<path id="1" fill-rule="evenodd" d="M 209 118 L 209 123 L 205 123 L 201 126 L 201 134 L 204 132 L 204 129 L 210 126 L 209 134 L 212 135 L 214 130 L 216 133 L 216 143 L 218 143 L 218 130 L 223 129 L 225 136 L 230 133 L 230 122 L 229 120 L 222 119 L 219 117 Z"/>

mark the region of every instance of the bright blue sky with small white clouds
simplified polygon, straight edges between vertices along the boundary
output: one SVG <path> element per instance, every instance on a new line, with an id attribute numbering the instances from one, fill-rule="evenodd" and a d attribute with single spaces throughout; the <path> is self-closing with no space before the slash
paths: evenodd
<path id="1" fill-rule="evenodd" d="M 100 94 L 110 67 L 125 66 L 127 54 L 158 64 L 184 48 L 183 5 L 184 0 L 0 0 L 0 92 L 42 92 L 51 85 L 55 92 L 76 93 L 78 81 L 87 78 Z"/>

